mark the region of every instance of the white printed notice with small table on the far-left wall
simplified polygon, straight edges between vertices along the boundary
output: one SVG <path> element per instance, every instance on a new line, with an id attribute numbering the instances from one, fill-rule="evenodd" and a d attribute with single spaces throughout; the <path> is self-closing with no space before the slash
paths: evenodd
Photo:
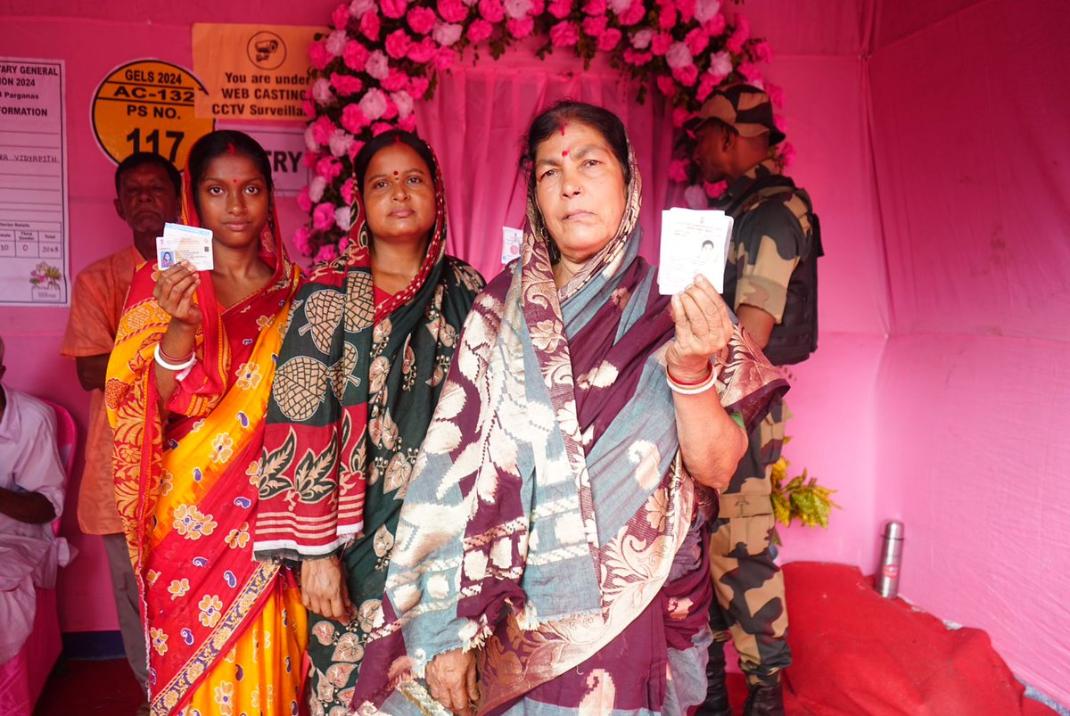
<path id="1" fill-rule="evenodd" d="M 0 58 L 0 306 L 70 305 L 64 81 Z"/>

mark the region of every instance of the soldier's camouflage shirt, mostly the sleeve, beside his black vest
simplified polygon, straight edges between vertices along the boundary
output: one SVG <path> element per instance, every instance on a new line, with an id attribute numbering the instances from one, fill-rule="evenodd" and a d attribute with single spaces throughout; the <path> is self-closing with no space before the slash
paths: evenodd
<path id="1" fill-rule="evenodd" d="M 778 174 L 771 161 L 763 162 L 729 185 L 716 208 L 735 219 L 724 271 L 724 300 L 734 310 L 747 304 L 761 308 L 780 323 L 788 301 L 788 283 L 808 245 L 808 208 L 796 189 L 777 199 L 754 202 L 760 182 Z M 786 199 L 786 200 L 783 200 Z"/>

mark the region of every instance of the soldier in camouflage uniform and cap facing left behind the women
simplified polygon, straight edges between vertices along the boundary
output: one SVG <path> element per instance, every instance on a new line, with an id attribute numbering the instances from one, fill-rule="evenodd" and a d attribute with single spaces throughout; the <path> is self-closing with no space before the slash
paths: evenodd
<path id="1" fill-rule="evenodd" d="M 728 182 L 728 191 L 717 202 L 718 209 L 734 218 L 724 301 L 778 363 L 771 354 L 775 347 L 768 346 L 774 327 L 789 323 L 789 315 L 797 318 L 801 310 L 799 296 L 793 295 L 793 273 L 808 254 L 820 255 L 820 240 L 811 240 L 809 197 L 779 174 L 769 161 L 769 147 L 784 135 L 773 123 L 765 92 L 746 85 L 719 90 L 703 104 L 688 130 L 699 141 L 694 158 L 705 179 Z M 809 257 L 809 261 L 814 260 L 815 256 Z M 807 301 L 815 304 L 816 274 L 813 276 L 813 295 Z M 813 311 L 815 334 L 815 305 L 809 305 L 809 310 Z M 804 350 L 804 357 L 809 350 Z M 791 652 L 784 580 L 769 547 L 774 530 L 769 477 L 780 458 L 789 416 L 782 402 L 773 406 L 750 435 L 735 476 L 721 491 L 720 515 L 712 527 L 709 545 L 717 594 L 710 612 L 715 642 L 707 669 L 709 691 L 700 714 L 731 713 L 724 688 L 723 644 L 729 638 L 739 653 L 739 666 L 749 685 L 744 713 L 783 714 L 780 671 L 791 664 Z"/>

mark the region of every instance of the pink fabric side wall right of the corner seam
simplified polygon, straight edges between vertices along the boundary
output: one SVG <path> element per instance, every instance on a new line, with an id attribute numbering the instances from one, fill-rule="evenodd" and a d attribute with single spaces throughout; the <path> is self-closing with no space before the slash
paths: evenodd
<path id="1" fill-rule="evenodd" d="M 877 504 L 906 523 L 903 593 L 1070 703 L 1070 12 L 916 4 L 914 26 L 884 5 L 870 67 Z"/>

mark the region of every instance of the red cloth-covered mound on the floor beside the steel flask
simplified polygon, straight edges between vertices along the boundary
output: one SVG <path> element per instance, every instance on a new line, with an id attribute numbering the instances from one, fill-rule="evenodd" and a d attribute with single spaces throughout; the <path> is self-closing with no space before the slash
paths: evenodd
<path id="1" fill-rule="evenodd" d="M 784 580 L 794 661 L 784 674 L 789 714 L 1055 714 L 1025 698 L 987 634 L 948 629 L 901 599 L 882 598 L 856 567 L 794 562 Z"/>

